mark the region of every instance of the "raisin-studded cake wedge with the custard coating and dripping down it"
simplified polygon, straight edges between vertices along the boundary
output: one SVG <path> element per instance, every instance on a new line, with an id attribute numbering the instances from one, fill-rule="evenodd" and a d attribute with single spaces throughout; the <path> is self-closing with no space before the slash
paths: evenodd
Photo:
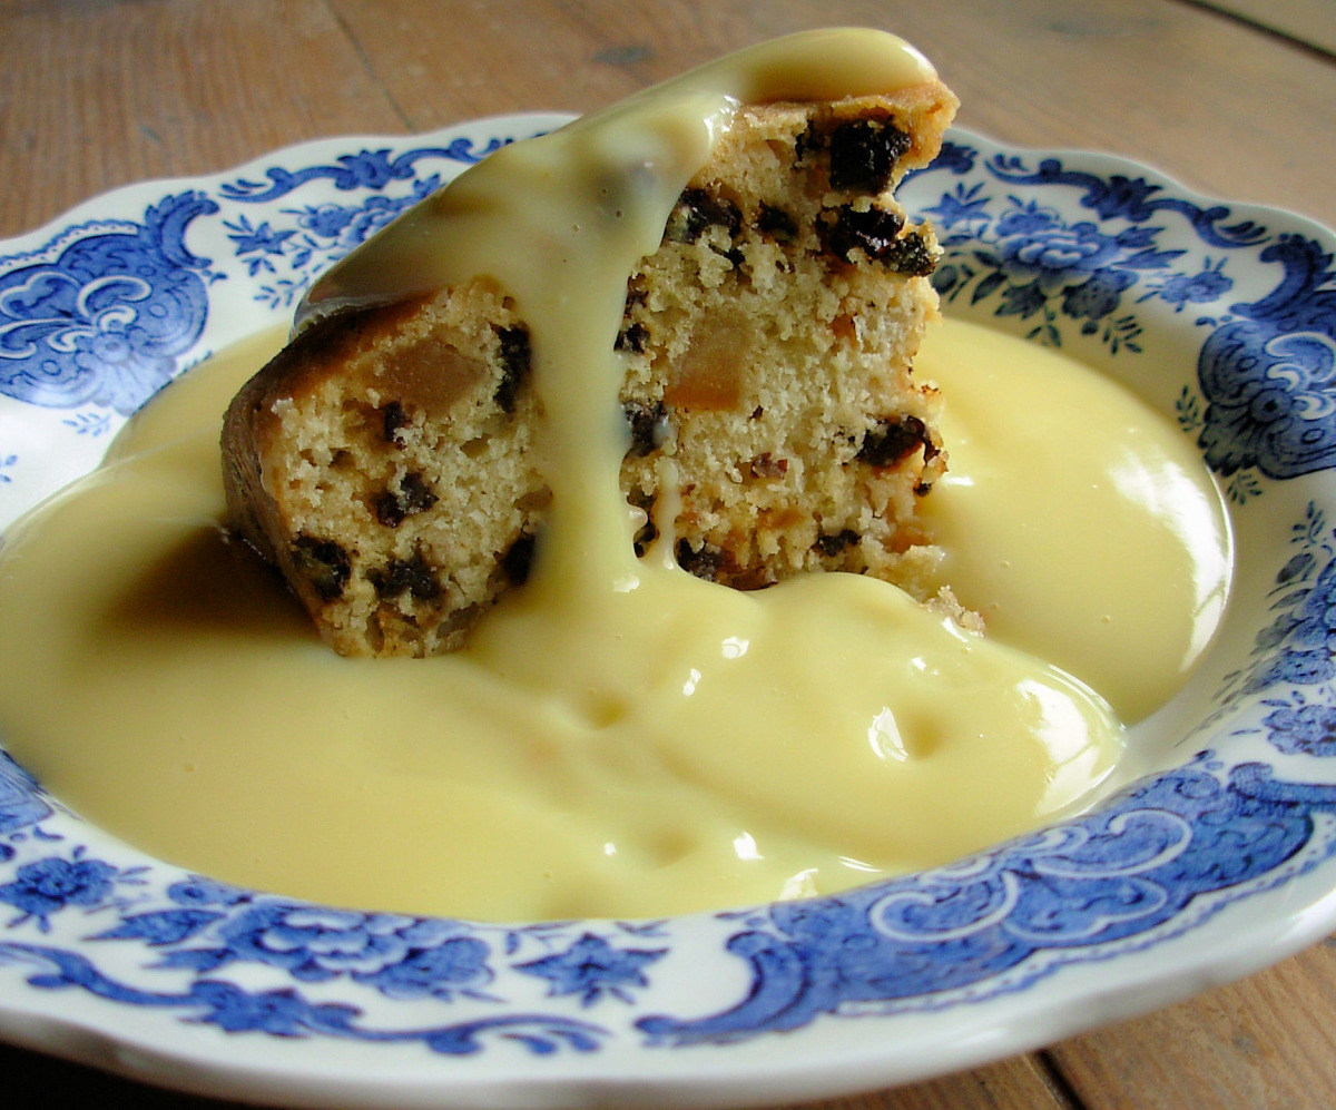
<path id="1" fill-rule="evenodd" d="M 228 410 L 232 521 L 354 656 L 461 646 L 558 517 L 592 544 L 608 449 L 641 556 L 663 532 L 741 589 L 912 585 L 938 247 L 892 194 L 955 104 L 899 40 L 835 31 L 492 155 L 311 291 Z"/>

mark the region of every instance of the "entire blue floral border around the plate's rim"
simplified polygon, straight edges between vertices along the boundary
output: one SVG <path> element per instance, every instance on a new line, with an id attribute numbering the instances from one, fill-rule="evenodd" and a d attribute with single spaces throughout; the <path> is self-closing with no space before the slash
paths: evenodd
<path id="1" fill-rule="evenodd" d="M 215 302 L 290 306 L 314 272 L 506 139 L 290 159 L 0 256 L 0 394 L 68 410 L 63 434 L 103 435 L 198 357 Z M 1236 505 L 1329 470 L 1332 236 L 1120 166 L 990 152 L 954 135 L 902 190 L 938 228 L 949 310 L 1116 361 L 1142 358 L 1164 317 L 1181 318 L 1173 326 L 1197 337 L 1198 355 L 1178 421 Z M 1275 274 L 1260 291 L 1259 272 Z M 25 461 L 7 451 L 4 427 L 0 484 Z M 1198 731 L 1212 752 L 953 867 L 665 922 L 365 914 L 134 858 L 0 755 L 0 964 L 44 996 L 98 996 L 228 1034 L 415 1042 L 450 1057 L 506 1045 L 537 1061 L 628 1041 L 645 1051 L 744 1042 L 823 1015 L 1029 990 L 1073 962 L 1164 943 L 1336 852 L 1336 784 L 1323 769 L 1336 755 L 1332 512 L 1324 485 L 1293 521 L 1269 616 Z M 704 1015 L 659 1002 L 661 984 L 701 974 L 681 943 L 692 930 L 712 930 L 719 959 L 743 971 L 735 996 Z"/>

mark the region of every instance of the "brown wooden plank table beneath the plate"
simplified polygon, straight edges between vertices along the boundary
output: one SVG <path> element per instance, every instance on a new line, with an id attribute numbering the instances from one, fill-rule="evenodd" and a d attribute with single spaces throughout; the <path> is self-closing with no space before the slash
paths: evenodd
<path id="1" fill-rule="evenodd" d="M 967 127 L 1128 155 L 1336 226 L 1332 0 L 0 0 L 0 236 L 305 139 L 584 111 L 836 23 L 916 43 Z M 820 1106 L 1317 1110 L 1336 1105 L 1333 1018 L 1327 940 L 1039 1053 Z M 0 1077 L 9 1110 L 226 1106 L 8 1047 Z"/>

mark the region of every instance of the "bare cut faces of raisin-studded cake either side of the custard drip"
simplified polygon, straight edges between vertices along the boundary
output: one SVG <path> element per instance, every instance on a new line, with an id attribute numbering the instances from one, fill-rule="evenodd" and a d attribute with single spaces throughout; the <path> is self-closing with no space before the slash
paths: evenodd
<path id="1" fill-rule="evenodd" d="M 673 481 L 680 565 L 728 586 L 808 570 L 912 586 L 931 561 L 915 506 L 946 457 L 911 370 L 939 251 L 894 188 L 954 108 L 929 84 L 740 110 L 627 285 L 637 549 Z M 230 406 L 231 522 L 338 652 L 452 651 L 529 573 L 541 419 L 528 326 L 493 281 L 335 314 Z"/>

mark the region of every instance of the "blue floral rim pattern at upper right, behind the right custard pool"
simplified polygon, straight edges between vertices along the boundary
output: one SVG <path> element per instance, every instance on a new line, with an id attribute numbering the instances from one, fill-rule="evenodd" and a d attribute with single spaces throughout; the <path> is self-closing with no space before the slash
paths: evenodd
<path id="1" fill-rule="evenodd" d="M 943 191 L 943 175 L 961 180 Z M 1234 501 L 1260 493 L 1260 477 L 1336 462 L 1329 236 L 1272 231 L 1148 176 L 985 156 L 958 142 L 908 191 L 946 251 L 934 283 L 947 306 L 1015 318 L 1027 338 L 1053 346 L 1097 338 L 1114 355 L 1141 351 L 1148 301 L 1190 309 L 1202 346 L 1197 389 L 1184 386 L 1178 418 Z M 1275 286 L 1233 299 L 1240 266 L 1259 262 L 1280 267 Z"/>

